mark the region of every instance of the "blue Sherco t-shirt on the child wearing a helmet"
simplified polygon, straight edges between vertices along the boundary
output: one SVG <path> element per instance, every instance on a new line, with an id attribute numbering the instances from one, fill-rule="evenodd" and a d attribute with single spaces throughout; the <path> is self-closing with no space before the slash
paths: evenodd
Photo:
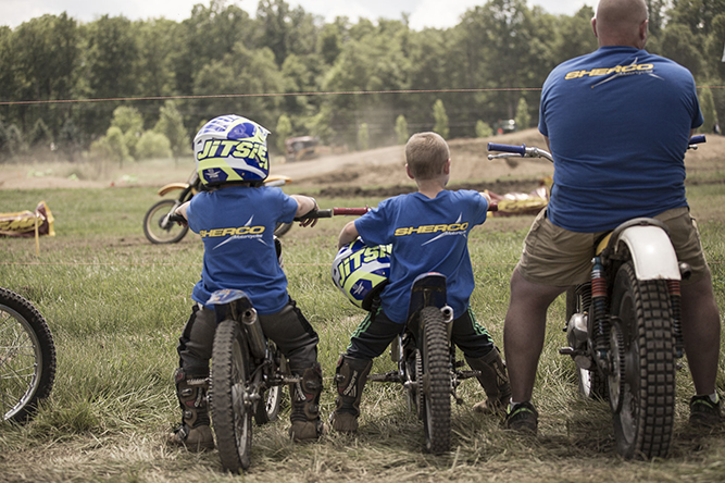
<path id="1" fill-rule="evenodd" d="M 204 263 L 191 298 L 205 305 L 213 292 L 236 288 L 261 314 L 282 310 L 289 297 L 274 228 L 296 212 L 297 201 L 279 188 L 229 186 L 195 195 L 186 214 L 204 243 Z"/>

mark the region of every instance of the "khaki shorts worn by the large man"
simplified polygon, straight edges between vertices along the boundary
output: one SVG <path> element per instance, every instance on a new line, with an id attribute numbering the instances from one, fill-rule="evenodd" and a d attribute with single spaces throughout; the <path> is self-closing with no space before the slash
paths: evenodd
<path id="1" fill-rule="evenodd" d="M 536 216 L 524 240 L 518 272 L 528 282 L 550 286 L 570 286 L 588 282 L 595 244 L 608 232 L 577 233 L 552 224 L 546 209 Z M 708 263 L 700 244 L 700 233 L 689 208 L 675 208 L 654 216 L 670 228 L 670 238 L 677 260 L 692 268 L 692 275 L 683 285 L 699 281 L 708 273 Z"/>

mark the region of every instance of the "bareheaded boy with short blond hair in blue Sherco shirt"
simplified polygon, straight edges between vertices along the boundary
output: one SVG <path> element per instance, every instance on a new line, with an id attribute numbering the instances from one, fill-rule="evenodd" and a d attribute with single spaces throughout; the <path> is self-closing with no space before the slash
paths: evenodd
<path id="1" fill-rule="evenodd" d="M 451 339 L 468 366 L 480 371 L 478 381 L 488 396 L 487 401 L 477 405 L 478 410 L 503 413 L 511 394 L 499 350 L 468 305 L 474 288 L 468 232 L 486 221 L 490 198 L 473 190 L 446 189 L 450 151 L 436 133 L 414 134 L 405 145 L 405 161 L 417 193 L 382 201 L 348 223 L 338 240 L 340 248 L 358 236 L 370 246 L 392 245 L 389 283 L 380 293 L 379 308 L 371 310 L 352 334 L 337 364 L 338 396 L 332 422 L 340 432 L 358 430 L 360 400 L 373 359 L 403 331 L 411 286 L 426 272 L 439 272 L 448 278 L 447 300 L 455 314 Z M 448 228 L 441 232 L 425 226 Z"/>

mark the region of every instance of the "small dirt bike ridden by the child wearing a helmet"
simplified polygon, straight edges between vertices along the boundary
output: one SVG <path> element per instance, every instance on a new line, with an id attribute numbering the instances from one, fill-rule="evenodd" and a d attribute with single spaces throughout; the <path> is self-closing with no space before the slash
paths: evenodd
<path id="1" fill-rule="evenodd" d="M 340 214 L 362 214 L 366 208 L 315 210 L 302 221 Z M 173 214 L 170 222 L 186 223 Z M 282 244 L 275 238 L 282 263 Z M 216 447 L 225 470 L 239 472 L 251 465 L 252 417 L 257 424 L 277 418 L 283 387 L 297 384 L 287 359 L 264 334 L 251 300 L 243 290 L 221 289 L 212 294 L 208 306 L 214 307 L 216 333 L 212 346 L 209 406 L 216 435 Z"/>

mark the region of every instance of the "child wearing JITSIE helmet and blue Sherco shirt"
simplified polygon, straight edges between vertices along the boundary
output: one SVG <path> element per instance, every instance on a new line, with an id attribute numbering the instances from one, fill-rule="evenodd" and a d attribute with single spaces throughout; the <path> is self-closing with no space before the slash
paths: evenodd
<path id="1" fill-rule="evenodd" d="M 214 447 L 207 387 L 195 381 L 209 377 L 216 320 L 213 308 L 204 304 L 222 288 L 247 293 L 264 333 L 289 359 L 292 374 L 302 380 L 289 387 L 290 436 L 314 439 L 323 431 L 318 337 L 287 293 L 274 239 L 278 222 L 291 223 L 315 210 L 317 203 L 307 196 L 287 196 L 279 188 L 263 186 L 270 174 L 268 134 L 253 121 L 223 115 L 207 123 L 193 139 L 197 170 L 205 190 L 176 212 L 201 235 L 204 258 L 201 280 L 191 294 L 196 304 L 177 347 L 179 368 L 174 379 L 183 419 L 170 435 L 171 443 L 190 450 Z"/>

